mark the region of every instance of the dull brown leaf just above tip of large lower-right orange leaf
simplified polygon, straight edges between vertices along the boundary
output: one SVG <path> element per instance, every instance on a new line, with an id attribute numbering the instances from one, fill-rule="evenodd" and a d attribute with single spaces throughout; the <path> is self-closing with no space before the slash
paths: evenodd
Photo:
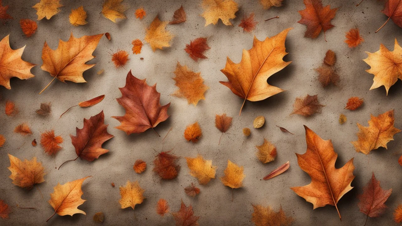
<path id="1" fill-rule="evenodd" d="M 293 104 L 293 112 L 291 115 L 297 114 L 308 117 L 314 115 L 316 112 L 321 113 L 321 108 L 324 106 L 325 105 L 321 105 L 320 102 L 318 102 L 317 95 L 307 95 L 304 98 L 297 97 Z"/>

